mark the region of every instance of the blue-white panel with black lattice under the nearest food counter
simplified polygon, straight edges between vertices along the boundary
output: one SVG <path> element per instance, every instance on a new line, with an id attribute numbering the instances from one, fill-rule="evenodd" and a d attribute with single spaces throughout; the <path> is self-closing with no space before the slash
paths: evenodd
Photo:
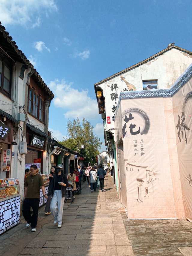
<path id="1" fill-rule="evenodd" d="M 0 234 L 19 224 L 20 196 L 0 202 Z"/>

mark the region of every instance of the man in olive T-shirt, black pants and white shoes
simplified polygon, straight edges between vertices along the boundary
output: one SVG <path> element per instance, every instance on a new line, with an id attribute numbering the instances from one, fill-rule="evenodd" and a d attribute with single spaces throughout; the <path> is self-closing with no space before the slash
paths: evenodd
<path id="1" fill-rule="evenodd" d="M 40 187 L 43 192 L 43 196 L 48 198 L 45 194 L 45 186 L 43 182 L 43 177 L 37 173 L 37 166 L 32 164 L 30 166 L 30 175 L 26 177 L 24 183 L 24 201 L 22 205 L 23 217 L 27 221 L 26 227 L 31 225 L 31 231 L 36 231 L 36 226 L 38 222 L 38 209 L 39 209 L 39 197 L 40 197 Z M 32 207 L 33 213 L 31 216 L 30 208 Z"/>

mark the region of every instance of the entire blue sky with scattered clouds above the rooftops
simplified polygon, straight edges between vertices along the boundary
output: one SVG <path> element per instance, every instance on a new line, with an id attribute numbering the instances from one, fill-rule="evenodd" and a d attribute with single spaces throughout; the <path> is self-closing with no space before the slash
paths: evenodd
<path id="1" fill-rule="evenodd" d="M 94 83 L 172 42 L 192 51 L 191 12 L 188 0 L 0 0 L 2 25 L 55 94 L 49 128 L 58 140 L 67 118 L 85 117 L 104 141 Z"/>

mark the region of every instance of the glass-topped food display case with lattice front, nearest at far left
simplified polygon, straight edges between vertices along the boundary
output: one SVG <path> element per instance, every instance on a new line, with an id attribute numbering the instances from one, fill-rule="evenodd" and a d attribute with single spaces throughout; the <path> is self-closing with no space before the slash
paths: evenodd
<path id="1" fill-rule="evenodd" d="M 19 184 L 0 183 L 0 234 L 19 223 Z"/>

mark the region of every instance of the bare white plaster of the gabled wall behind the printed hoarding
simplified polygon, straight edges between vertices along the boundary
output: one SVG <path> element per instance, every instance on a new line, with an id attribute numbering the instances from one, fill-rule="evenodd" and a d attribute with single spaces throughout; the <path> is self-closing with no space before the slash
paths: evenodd
<path id="1" fill-rule="evenodd" d="M 158 80 L 158 89 L 167 89 L 171 87 L 191 62 L 191 55 L 172 48 L 151 61 L 127 71 L 122 74 L 122 76 L 125 77 L 127 82 L 136 86 L 137 91 L 143 90 L 143 80 Z M 106 123 L 106 130 L 114 128 L 112 116 L 114 116 L 115 113 L 112 112 L 112 107 L 118 104 L 119 99 L 116 101 L 111 100 L 111 93 L 115 93 L 115 90 L 113 89 L 112 91 L 110 87 L 115 83 L 119 87 L 117 89 L 119 97 L 120 92 L 123 91 L 124 88 L 128 89 L 126 83 L 121 81 L 120 75 L 98 85 L 98 87 L 103 89 L 103 95 L 105 97 L 106 119 L 107 116 L 110 116 L 111 119 L 111 124 Z"/>

